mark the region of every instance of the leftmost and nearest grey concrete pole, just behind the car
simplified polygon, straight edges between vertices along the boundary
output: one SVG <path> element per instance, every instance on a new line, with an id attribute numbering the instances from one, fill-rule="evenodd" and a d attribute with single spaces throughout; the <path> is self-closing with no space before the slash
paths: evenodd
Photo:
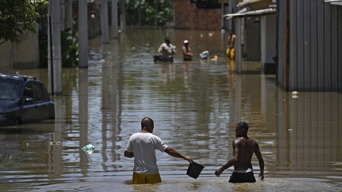
<path id="1" fill-rule="evenodd" d="M 62 93 L 61 2 L 50 0 L 48 8 L 48 92 Z"/>

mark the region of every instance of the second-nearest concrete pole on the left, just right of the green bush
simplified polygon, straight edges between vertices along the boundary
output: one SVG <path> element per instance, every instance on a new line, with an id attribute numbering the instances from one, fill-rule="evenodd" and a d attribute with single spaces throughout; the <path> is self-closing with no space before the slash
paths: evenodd
<path id="1" fill-rule="evenodd" d="M 88 68 L 88 3 L 86 0 L 78 1 L 78 68 Z"/>

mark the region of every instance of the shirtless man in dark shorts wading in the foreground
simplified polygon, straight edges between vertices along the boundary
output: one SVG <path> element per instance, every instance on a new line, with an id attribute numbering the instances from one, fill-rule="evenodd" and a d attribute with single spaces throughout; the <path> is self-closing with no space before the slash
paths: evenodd
<path id="1" fill-rule="evenodd" d="M 230 176 L 229 183 L 254 183 L 256 180 L 252 168 L 252 156 L 255 154 L 259 160 L 260 174 L 259 177 L 264 179 L 264 159 L 262 159 L 259 144 L 247 137 L 248 124 L 246 122 L 239 122 L 235 129 L 236 137 L 233 141 L 233 158 L 229 159 L 227 164 L 215 171 L 215 175 L 219 176 L 222 172 L 230 166 L 234 166 L 232 176 Z"/>

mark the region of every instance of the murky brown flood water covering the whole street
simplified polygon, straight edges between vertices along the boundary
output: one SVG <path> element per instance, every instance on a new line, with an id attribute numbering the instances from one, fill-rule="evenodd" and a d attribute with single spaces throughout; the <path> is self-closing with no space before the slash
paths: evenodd
<path id="1" fill-rule="evenodd" d="M 155 63 L 165 36 L 176 46 L 175 62 Z M 11 159 L 0 164 L 0 190 L 342 191 L 341 92 L 293 97 L 258 62 L 244 62 L 235 74 L 225 55 L 227 36 L 128 28 L 109 44 L 90 40 L 88 68 L 63 68 L 63 93 L 53 97 L 56 119 L 25 124 L 23 132 L 1 130 L 1 156 Z M 185 39 L 192 61 L 182 60 Z M 199 60 L 204 50 L 219 60 Z M 48 84 L 46 69 L 19 72 Z M 156 151 L 162 183 L 131 184 L 133 159 L 123 152 L 143 117 L 154 119 L 153 133 L 163 142 L 205 166 L 199 178 L 186 175 L 187 161 Z M 264 181 L 255 156 L 257 183 L 228 183 L 232 168 L 214 176 L 232 158 L 240 121 L 259 142 Z M 95 146 L 93 154 L 81 150 L 86 144 Z"/>

